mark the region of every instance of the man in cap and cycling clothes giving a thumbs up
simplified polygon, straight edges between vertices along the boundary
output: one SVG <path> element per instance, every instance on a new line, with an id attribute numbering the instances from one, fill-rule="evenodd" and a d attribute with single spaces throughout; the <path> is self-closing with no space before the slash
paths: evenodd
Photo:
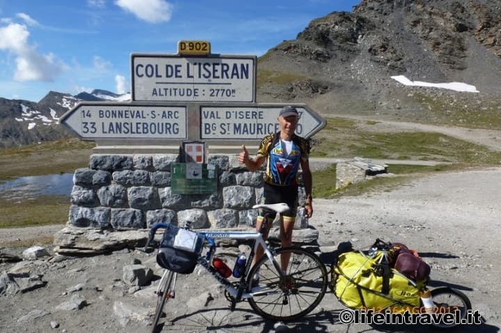
<path id="1" fill-rule="evenodd" d="M 299 121 L 299 113 L 292 106 L 285 106 L 278 115 L 280 131 L 270 134 L 262 139 L 255 159 L 250 159 L 245 145 L 239 154 L 238 161 L 243 163 L 249 170 L 259 170 L 264 161 L 267 162 L 264 173 L 263 204 L 278 204 L 285 202 L 289 205 L 289 211 L 280 214 L 280 241 L 282 247 L 292 245 L 292 229 L 296 220 L 298 205 L 298 170 L 301 165 L 303 170 L 303 184 L 306 191 L 305 216 L 310 218 L 312 208 L 312 174 L 308 156 L 310 144 L 308 140 L 296 136 L 296 126 Z M 268 237 L 269 228 L 276 213 L 269 214 L 267 229 L 263 234 Z M 264 220 L 263 213 L 257 217 L 256 229 L 259 230 Z M 254 262 L 262 257 L 262 247 L 257 249 Z M 281 256 L 281 266 L 285 270 L 289 263 L 289 257 Z"/>

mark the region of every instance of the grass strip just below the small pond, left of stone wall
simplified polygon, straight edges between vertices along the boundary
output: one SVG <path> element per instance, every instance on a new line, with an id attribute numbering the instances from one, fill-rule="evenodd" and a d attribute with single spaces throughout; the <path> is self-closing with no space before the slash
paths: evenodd
<path id="1" fill-rule="evenodd" d="M 0 206 L 0 228 L 64 225 L 70 211 L 70 198 L 51 195 L 18 201 L 0 198 Z"/>

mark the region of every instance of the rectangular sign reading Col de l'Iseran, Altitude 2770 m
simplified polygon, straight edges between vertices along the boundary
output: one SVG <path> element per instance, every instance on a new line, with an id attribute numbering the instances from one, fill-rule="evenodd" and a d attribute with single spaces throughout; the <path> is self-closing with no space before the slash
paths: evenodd
<path id="1" fill-rule="evenodd" d="M 255 101 L 255 56 L 132 54 L 132 101 Z"/>

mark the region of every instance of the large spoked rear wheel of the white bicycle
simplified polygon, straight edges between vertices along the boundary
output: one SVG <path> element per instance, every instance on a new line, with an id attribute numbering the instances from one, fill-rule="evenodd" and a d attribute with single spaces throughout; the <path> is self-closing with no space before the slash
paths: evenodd
<path id="1" fill-rule="evenodd" d="M 285 275 L 280 277 L 276 264 L 280 267 L 287 257 Z M 264 255 L 250 270 L 248 290 L 254 294 L 248 299 L 250 307 L 272 320 L 294 320 L 309 314 L 326 293 L 324 263 L 300 247 L 280 248 L 274 259 L 275 264 Z"/>

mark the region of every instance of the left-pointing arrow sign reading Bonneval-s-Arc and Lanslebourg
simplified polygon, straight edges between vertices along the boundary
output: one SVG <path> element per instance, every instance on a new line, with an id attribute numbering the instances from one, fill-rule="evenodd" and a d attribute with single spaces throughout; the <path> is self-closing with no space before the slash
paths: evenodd
<path id="1" fill-rule="evenodd" d="M 186 106 L 80 103 L 61 124 L 84 139 L 186 139 Z"/>

